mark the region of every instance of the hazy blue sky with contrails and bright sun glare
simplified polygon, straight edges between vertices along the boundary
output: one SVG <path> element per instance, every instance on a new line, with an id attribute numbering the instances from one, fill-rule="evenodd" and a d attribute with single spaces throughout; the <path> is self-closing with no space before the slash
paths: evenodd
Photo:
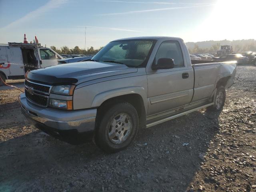
<path id="1" fill-rule="evenodd" d="M 99 48 L 137 36 L 256 39 L 256 0 L 0 0 L 0 43 Z M 86 43 L 85 43 L 86 27 Z"/>

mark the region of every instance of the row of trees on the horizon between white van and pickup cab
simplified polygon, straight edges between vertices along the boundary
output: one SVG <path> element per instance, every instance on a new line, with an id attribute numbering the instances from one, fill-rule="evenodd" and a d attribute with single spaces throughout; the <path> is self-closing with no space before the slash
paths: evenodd
<path id="1" fill-rule="evenodd" d="M 73 55 L 95 55 L 98 53 L 103 47 L 99 49 L 94 49 L 93 46 L 86 49 L 80 49 L 78 46 L 75 46 L 73 49 L 68 48 L 67 46 L 62 46 L 60 49 L 55 46 L 51 46 L 51 49 L 57 52 L 58 54 L 73 54 Z"/>

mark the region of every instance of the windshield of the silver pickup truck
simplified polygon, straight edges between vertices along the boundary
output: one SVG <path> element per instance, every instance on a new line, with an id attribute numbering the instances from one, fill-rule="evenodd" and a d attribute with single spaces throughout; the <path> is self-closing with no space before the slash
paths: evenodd
<path id="1" fill-rule="evenodd" d="M 131 67 L 146 66 L 155 40 L 120 40 L 107 44 L 92 60 L 125 64 Z"/>

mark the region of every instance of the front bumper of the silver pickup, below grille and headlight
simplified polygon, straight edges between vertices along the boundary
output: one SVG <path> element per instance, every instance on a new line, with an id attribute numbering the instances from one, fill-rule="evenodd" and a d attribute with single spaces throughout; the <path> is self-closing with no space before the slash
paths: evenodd
<path id="1" fill-rule="evenodd" d="M 95 127 L 97 109 L 58 110 L 42 108 L 27 101 L 25 94 L 20 94 L 19 102 L 22 113 L 32 124 L 43 124 L 55 130 L 77 130 L 77 132 L 92 132 Z"/>

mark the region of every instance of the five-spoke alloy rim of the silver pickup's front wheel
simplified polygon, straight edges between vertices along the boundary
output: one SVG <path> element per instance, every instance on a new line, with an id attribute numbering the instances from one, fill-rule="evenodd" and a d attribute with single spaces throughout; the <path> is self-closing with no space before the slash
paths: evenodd
<path id="1" fill-rule="evenodd" d="M 132 120 L 127 113 L 117 114 L 110 121 L 108 128 L 108 138 L 114 144 L 123 143 L 130 135 L 132 130 Z"/>

